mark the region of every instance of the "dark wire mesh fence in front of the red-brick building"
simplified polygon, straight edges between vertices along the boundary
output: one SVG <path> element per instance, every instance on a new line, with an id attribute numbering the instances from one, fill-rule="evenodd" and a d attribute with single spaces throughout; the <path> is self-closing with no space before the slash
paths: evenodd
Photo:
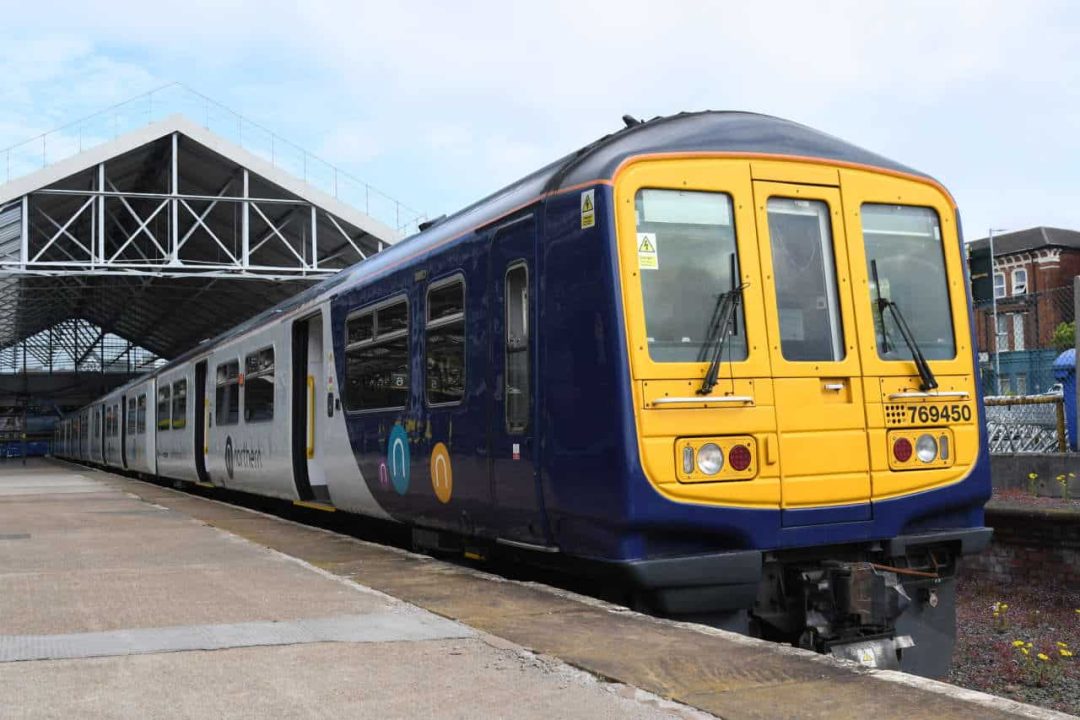
<path id="1" fill-rule="evenodd" d="M 999 297 L 975 304 L 975 336 L 983 392 L 1037 395 L 1051 392 L 1054 359 L 1075 345 L 1072 287 Z"/>

